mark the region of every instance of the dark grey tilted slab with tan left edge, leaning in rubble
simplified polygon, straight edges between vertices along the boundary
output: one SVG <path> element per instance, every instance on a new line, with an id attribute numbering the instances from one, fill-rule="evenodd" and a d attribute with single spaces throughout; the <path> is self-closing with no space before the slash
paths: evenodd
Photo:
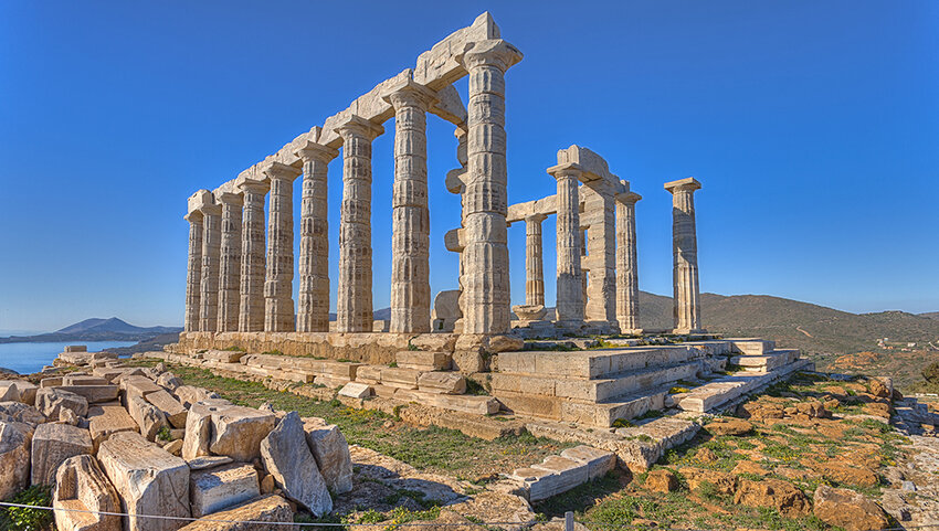
<path id="1" fill-rule="evenodd" d="M 264 467 L 274 476 L 287 498 L 304 506 L 314 516 L 333 511 L 333 498 L 306 444 L 303 423 L 291 412 L 261 443 Z"/>

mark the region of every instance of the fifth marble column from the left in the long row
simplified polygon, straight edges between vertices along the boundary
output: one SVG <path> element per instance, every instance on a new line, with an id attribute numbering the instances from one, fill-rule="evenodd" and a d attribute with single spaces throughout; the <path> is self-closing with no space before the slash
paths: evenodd
<path id="1" fill-rule="evenodd" d="M 300 170 L 281 162 L 264 169 L 271 181 L 267 206 L 267 275 L 264 282 L 264 331 L 294 327 L 294 179 Z"/>

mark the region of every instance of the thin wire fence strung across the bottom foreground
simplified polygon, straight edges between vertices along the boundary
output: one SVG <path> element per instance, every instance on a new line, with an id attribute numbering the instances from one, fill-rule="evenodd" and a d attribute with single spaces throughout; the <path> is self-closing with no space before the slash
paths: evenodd
<path id="1" fill-rule="evenodd" d="M 176 521 L 187 521 L 187 522 L 211 522 L 211 523 L 239 523 L 239 524 L 249 524 L 249 525 L 264 525 L 264 527 L 295 527 L 295 528 L 348 528 L 348 527 L 357 527 L 357 528 L 387 528 L 387 529 L 397 529 L 397 528 L 466 528 L 466 527 L 478 527 L 482 529 L 489 528 L 499 528 L 499 527 L 524 527 L 528 528 L 535 525 L 539 522 L 536 520 L 529 520 L 524 522 L 484 522 L 477 519 L 467 519 L 465 522 L 430 522 L 430 521 L 418 521 L 418 522 L 379 522 L 379 523 L 339 523 L 339 522 L 268 522 L 263 520 L 226 520 L 226 519 L 218 519 L 209 517 L 202 518 L 191 518 L 191 517 L 169 517 L 163 514 L 130 514 L 127 512 L 107 512 L 107 511 L 93 511 L 89 509 L 67 509 L 67 508 L 54 508 L 54 507 L 43 507 L 43 506 L 31 506 L 27 503 L 10 503 L 10 502 L 0 502 L 0 507 L 7 508 L 19 508 L 19 509 L 38 509 L 45 511 L 61 511 L 61 512 L 81 512 L 85 514 L 96 514 L 103 517 L 131 517 L 131 518 L 141 518 L 141 519 L 155 519 L 155 520 L 176 520 Z M 650 529 L 647 525 L 634 525 L 631 523 L 621 523 L 621 522 L 598 522 L 594 520 L 576 520 L 573 512 L 565 513 L 565 531 L 573 531 L 574 524 L 582 525 L 597 525 L 609 529 Z M 655 528 L 658 531 L 672 531 L 672 528 Z M 884 529 L 871 529 L 864 531 L 909 531 L 914 529 L 939 529 L 939 523 L 927 523 L 921 525 L 904 525 L 897 528 L 884 528 Z M 677 530 L 676 530 L 677 531 Z M 682 528 L 680 531 L 711 531 L 705 529 L 694 529 L 694 528 Z"/>

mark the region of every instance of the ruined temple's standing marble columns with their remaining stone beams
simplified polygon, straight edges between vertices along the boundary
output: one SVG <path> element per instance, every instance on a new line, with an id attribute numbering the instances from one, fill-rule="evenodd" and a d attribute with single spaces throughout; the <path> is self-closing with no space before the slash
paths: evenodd
<path id="1" fill-rule="evenodd" d="M 557 194 L 508 204 L 505 73 L 521 53 L 500 39 L 488 13 L 418 57 L 413 68 L 376 86 L 348 108 L 286 144 L 217 189 L 189 198 L 189 268 L 183 343 L 217 339 L 267 341 L 271 333 L 334 347 L 337 334 L 392 349 L 414 334 L 453 332 L 476 348 L 514 328 L 525 333 L 637 333 L 635 203 L 641 197 L 589 149 L 558 152 L 548 173 Z M 468 103 L 454 83 L 468 77 Z M 461 195 L 462 222 L 446 235 L 460 254 L 458 288 L 437 295 L 429 282 L 428 113 L 450 121 L 461 167 L 446 174 Z M 394 118 L 393 183 L 372 182 L 371 144 Z M 342 157 L 339 242 L 328 238 L 327 164 Z M 303 180 L 302 214 L 293 216 L 294 181 Z M 337 181 L 337 176 L 331 176 Z M 686 181 L 693 183 L 686 183 Z M 393 187 L 391 316 L 372 318 L 371 191 Z M 703 332 L 694 205 L 697 181 L 666 184 L 675 194 L 675 328 Z M 267 217 L 264 219 L 264 203 Z M 335 205 L 334 205 L 335 208 Z M 546 320 L 541 221 L 557 215 L 556 316 Z M 510 308 L 507 227 L 525 222 L 525 305 Z M 294 231 L 300 233 L 294 256 Z M 335 251 L 334 251 L 335 249 Z M 339 254 L 337 285 L 328 259 Z M 294 301 L 294 263 L 298 299 Z M 330 299 L 337 317 L 330 326 Z M 517 320 L 513 322 L 513 311 Z M 374 333 L 390 337 L 374 338 Z M 395 338 L 391 338 L 397 336 Z M 510 344 L 510 343 L 507 343 Z"/>

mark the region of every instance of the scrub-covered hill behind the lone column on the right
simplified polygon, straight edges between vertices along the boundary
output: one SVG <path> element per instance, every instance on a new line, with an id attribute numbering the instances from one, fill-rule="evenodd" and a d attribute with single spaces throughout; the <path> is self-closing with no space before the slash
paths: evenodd
<path id="1" fill-rule="evenodd" d="M 701 294 L 708 331 L 762 337 L 806 352 L 851 353 L 875 349 L 877 339 L 926 343 L 939 340 L 939 319 L 905 311 L 850 314 L 769 295 Z M 644 328 L 672 326 L 672 298 L 640 293 Z"/>

